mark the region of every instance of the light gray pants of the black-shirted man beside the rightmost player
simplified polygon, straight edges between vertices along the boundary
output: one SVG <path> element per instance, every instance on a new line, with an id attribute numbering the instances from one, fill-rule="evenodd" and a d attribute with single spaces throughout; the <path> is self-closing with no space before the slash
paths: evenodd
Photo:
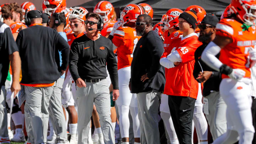
<path id="1" fill-rule="evenodd" d="M 206 114 L 206 118 L 210 126 L 213 140 L 215 140 L 227 130 L 227 106 L 219 92 L 211 92 L 206 98 L 208 98 L 209 107 L 209 114 Z"/>

